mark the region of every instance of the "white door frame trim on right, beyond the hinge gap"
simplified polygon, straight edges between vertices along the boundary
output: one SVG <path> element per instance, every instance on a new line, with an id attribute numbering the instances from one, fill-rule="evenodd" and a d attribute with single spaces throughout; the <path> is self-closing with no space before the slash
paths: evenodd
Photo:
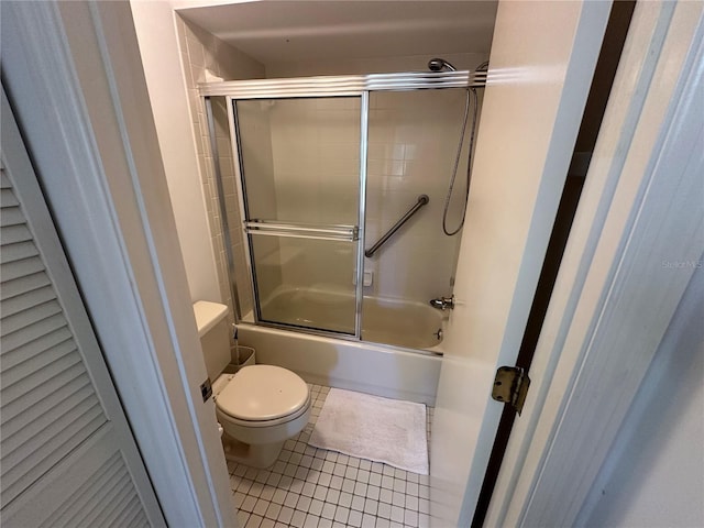
<path id="1" fill-rule="evenodd" d="M 702 13 L 636 6 L 485 526 L 574 525 L 702 266 Z"/>

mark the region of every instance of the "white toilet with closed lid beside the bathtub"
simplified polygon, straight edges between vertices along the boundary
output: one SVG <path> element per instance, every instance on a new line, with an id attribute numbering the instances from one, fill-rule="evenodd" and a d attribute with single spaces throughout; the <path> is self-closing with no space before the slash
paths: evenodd
<path id="1" fill-rule="evenodd" d="M 222 374 L 230 363 L 228 307 L 199 300 L 194 305 L 198 336 L 212 383 L 218 421 L 224 429 L 228 460 L 268 468 L 284 442 L 310 417 L 308 385 L 295 373 L 273 365 L 245 366 Z"/>

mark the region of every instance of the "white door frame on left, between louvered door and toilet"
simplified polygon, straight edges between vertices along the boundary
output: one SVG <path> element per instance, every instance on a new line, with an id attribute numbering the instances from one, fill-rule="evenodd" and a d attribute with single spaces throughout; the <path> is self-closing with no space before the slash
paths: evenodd
<path id="1" fill-rule="evenodd" d="M 237 526 L 130 4 L 3 3 L 2 81 L 166 521 Z"/>

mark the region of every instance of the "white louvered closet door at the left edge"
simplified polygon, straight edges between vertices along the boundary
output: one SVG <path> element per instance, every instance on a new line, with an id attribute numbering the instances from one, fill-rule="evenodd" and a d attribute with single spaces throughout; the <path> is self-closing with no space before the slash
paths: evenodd
<path id="1" fill-rule="evenodd" d="M 164 525 L 3 92 L 3 527 Z"/>

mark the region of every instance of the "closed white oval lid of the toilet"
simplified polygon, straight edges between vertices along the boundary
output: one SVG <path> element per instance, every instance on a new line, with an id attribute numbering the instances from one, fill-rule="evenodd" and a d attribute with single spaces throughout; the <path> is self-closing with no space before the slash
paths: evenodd
<path id="1" fill-rule="evenodd" d="M 298 375 L 273 365 L 245 366 L 218 394 L 223 413 L 241 420 L 273 420 L 300 409 L 308 386 Z"/>

